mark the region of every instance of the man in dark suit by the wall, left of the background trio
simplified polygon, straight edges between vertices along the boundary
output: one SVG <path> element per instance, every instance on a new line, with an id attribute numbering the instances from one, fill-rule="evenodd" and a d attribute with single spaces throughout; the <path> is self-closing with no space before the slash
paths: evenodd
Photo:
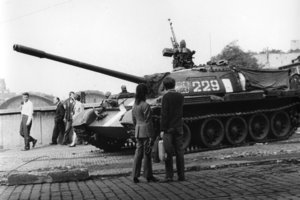
<path id="1" fill-rule="evenodd" d="M 59 97 L 54 97 L 53 103 L 56 105 L 56 111 L 54 117 L 52 142 L 50 143 L 50 145 L 56 145 L 58 136 L 63 135 L 65 132 L 65 123 L 64 123 L 65 108 L 62 102 L 60 101 Z"/>

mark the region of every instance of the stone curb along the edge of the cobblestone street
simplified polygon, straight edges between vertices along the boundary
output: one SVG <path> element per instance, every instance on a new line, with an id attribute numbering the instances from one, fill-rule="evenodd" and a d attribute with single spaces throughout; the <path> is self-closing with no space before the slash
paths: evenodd
<path id="1" fill-rule="evenodd" d="M 243 167 L 243 166 L 254 166 L 254 165 L 267 165 L 267 164 L 277 164 L 277 163 L 294 163 L 299 164 L 300 158 L 288 158 L 288 159 L 269 159 L 261 161 L 240 161 L 238 163 L 224 163 L 224 164 L 214 164 L 209 166 L 201 166 L 197 163 L 189 164 L 186 166 L 185 171 L 200 171 L 200 170 L 213 170 L 222 169 L 230 167 Z M 154 174 L 163 174 L 164 169 L 153 170 Z M 94 174 L 89 175 L 88 169 L 69 169 L 69 170 L 53 170 L 50 172 L 20 172 L 13 173 L 8 176 L 7 181 L 4 184 L 7 185 L 26 185 L 26 184 L 36 184 L 36 183 L 56 183 L 56 182 L 68 182 L 68 181 L 83 181 L 87 179 L 96 178 L 111 178 L 111 177 L 121 177 L 129 176 L 131 174 L 131 169 L 124 170 L 124 172 L 115 171 L 112 173 L 105 174 Z"/>

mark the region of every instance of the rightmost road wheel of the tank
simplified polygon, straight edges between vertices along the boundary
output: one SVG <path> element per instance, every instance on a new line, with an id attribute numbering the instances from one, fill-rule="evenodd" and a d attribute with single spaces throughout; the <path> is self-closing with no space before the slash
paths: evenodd
<path id="1" fill-rule="evenodd" d="M 291 119 L 290 116 L 284 112 L 275 112 L 271 116 L 271 130 L 272 134 L 278 138 L 282 139 L 289 133 L 291 129 Z"/>

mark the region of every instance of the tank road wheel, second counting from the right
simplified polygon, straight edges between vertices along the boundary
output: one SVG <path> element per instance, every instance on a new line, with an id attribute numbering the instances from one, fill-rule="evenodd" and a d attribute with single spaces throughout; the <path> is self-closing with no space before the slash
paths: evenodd
<path id="1" fill-rule="evenodd" d="M 268 117 L 263 114 L 254 114 L 249 119 L 249 135 L 252 140 L 259 142 L 264 140 L 270 130 Z"/>

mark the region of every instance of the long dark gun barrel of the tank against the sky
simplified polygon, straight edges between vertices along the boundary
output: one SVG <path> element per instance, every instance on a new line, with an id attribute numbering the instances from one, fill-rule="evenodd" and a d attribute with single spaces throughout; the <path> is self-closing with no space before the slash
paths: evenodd
<path id="1" fill-rule="evenodd" d="M 22 45 L 18 45 L 18 44 L 15 44 L 13 46 L 13 49 L 20 53 L 28 54 L 28 55 L 39 57 L 39 58 L 47 58 L 50 60 L 55 60 L 57 62 L 62 62 L 65 64 L 73 65 L 75 67 L 79 67 L 79 68 L 87 69 L 90 71 L 106 74 L 108 76 L 113 76 L 113 77 L 116 77 L 119 79 L 133 82 L 133 83 L 145 83 L 146 82 L 146 79 L 144 77 L 134 76 L 131 74 L 126 74 L 123 72 L 114 71 L 114 70 L 106 69 L 103 67 L 79 62 L 76 60 L 49 54 L 49 53 L 46 53 L 46 52 L 38 50 L 38 49 L 34 49 L 34 48 L 30 48 L 30 47 L 26 47 L 26 46 L 22 46 Z"/>

